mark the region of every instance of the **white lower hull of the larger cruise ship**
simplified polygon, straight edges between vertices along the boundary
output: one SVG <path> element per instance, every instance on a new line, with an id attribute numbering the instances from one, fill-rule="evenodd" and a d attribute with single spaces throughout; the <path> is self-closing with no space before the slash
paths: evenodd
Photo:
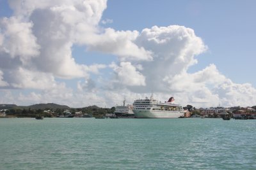
<path id="1" fill-rule="evenodd" d="M 132 110 L 136 118 L 179 118 L 184 117 L 183 111 L 166 110 Z"/>

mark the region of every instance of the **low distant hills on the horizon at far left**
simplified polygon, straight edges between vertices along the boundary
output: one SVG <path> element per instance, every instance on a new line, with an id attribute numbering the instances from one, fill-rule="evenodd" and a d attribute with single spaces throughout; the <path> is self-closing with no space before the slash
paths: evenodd
<path id="1" fill-rule="evenodd" d="M 55 104 L 55 103 L 47 103 L 47 104 L 33 104 L 31 106 L 17 106 L 16 104 L 0 104 L 0 110 L 10 110 L 10 109 L 28 109 L 31 110 L 44 110 L 44 109 L 69 109 L 68 106 Z"/>

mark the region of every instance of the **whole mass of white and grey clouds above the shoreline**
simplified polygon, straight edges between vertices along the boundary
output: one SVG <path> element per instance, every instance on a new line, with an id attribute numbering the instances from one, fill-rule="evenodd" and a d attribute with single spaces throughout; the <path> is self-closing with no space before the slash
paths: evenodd
<path id="1" fill-rule="evenodd" d="M 0 103 L 111 107 L 124 97 L 132 103 L 151 92 L 161 101 L 175 96 L 179 103 L 196 107 L 256 103 L 252 85 L 233 83 L 214 64 L 188 73 L 198 62 L 196 55 L 208 48 L 193 29 L 102 27 L 105 0 L 8 2 L 13 15 L 0 18 Z M 76 45 L 115 55 L 118 61 L 79 64 L 72 56 Z M 111 70 L 111 76 L 102 76 L 101 69 Z M 67 79 L 76 80 L 77 88 L 67 87 Z"/>

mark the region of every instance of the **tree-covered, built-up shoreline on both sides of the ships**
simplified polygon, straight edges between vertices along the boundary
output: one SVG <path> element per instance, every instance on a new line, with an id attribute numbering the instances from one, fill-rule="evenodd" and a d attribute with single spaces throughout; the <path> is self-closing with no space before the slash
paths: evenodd
<path id="1" fill-rule="evenodd" d="M 34 104 L 31 106 L 0 104 L 0 118 L 35 118 L 38 116 L 49 118 L 118 118 L 114 112 L 115 107 L 100 108 L 95 105 L 84 108 L 70 108 L 54 103 Z M 230 108 L 195 108 L 187 105 L 184 107 L 184 118 L 221 118 L 223 114 L 228 114 L 231 118 L 235 119 L 256 119 L 256 106 L 246 108 L 240 106 Z"/>

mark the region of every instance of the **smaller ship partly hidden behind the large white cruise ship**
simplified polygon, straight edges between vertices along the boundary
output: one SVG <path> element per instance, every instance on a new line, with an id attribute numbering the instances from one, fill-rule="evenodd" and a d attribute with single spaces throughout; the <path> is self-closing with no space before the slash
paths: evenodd
<path id="1" fill-rule="evenodd" d="M 125 100 L 123 103 L 123 106 L 116 106 L 116 110 L 114 112 L 116 117 L 134 117 L 134 113 L 132 112 L 132 104 L 127 104 L 127 106 L 125 106 Z"/>

